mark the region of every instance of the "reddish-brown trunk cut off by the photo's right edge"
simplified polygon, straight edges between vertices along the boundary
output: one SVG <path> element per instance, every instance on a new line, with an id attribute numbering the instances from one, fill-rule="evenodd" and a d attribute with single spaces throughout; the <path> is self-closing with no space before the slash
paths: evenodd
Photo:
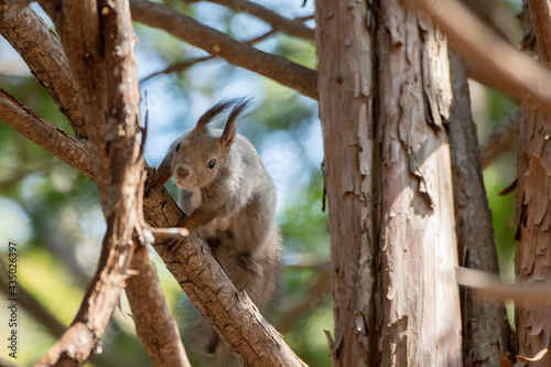
<path id="1" fill-rule="evenodd" d="M 532 2 L 525 1 L 523 46 L 531 53 L 539 54 L 538 45 L 547 45 L 545 32 L 532 22 L 540 18 L 536 9 L 528 9 Z M 534 28 L 536 26 L 536 28 Z M 536 36 L 534 36 L 536 35 Z M 541 37 L 544 37 L 541 40 Z M 536 42 L 538 39 L 538 42 Z M 544 55 L 551 54 L 547 50 Z M 540 56 L 541 57 L 541 56 Z M 549 65 L 549 60 L 542 60 Z M 532 101 L 532 102 L 531 102 Z M 525 284 L 549 282 L 551 269 L 550 237 L 550 168 L 551 142 L 549 131 L 551 116 L 540 109 L 533 99 L 526 99 L 522 106 L 522 119 L 519 130 L 519 158 L 517 166 L 517 280 Z M 550 347 L 551 302 L 532 304 L 529 301 L 516 303 L 516 347 L 517 354 L 533 357 L 540 350 Z M 526 363 L 518 361 L 519 366 Z M 550 366 L 551 355 L 547 353 L 530 366 Z"/>

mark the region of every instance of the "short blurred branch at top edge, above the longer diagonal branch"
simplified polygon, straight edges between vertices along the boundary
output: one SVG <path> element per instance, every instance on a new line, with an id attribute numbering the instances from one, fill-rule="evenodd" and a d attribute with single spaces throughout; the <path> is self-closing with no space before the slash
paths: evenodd
<path id="1" fill-rule="evenodd" d="M 207 0 L 219 6 L 227 7 L 235 11 L 245 11 L 270 24 L 274 30 L 283 31 L 309 41 L 315 41 L 315 31 L 304 25 L 304 23 L 282 17 L 256 2 L 247 0 Z"/>

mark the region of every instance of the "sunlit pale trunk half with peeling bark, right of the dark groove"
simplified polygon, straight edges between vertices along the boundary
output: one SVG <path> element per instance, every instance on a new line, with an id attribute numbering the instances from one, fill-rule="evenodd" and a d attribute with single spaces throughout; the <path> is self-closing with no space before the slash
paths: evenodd
<path id="1" fill-rule="evenodd" d="M 461 366 L 445 36 L 379 3 L 381 366 Z"/>

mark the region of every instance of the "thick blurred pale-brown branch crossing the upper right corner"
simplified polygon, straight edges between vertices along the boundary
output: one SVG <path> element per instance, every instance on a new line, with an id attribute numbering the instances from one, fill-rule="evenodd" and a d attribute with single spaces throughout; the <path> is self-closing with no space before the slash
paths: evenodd
<path id="1" fill-rule="evenodd" d="M 484 71 L 493 87 L 522 100 L 529 108 L 551 110 L 551 73 L 515 50 L 457 1 L 402 1 L 428 12 L 446 33 L 453 50 Z"/>

